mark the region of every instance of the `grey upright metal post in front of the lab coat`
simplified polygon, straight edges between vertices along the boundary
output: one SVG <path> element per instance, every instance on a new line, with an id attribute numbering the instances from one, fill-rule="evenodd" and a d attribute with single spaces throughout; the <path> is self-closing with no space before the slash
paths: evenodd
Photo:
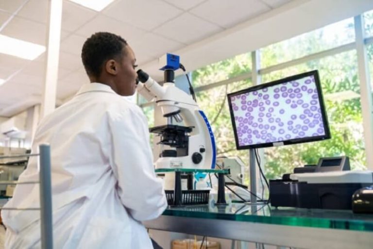
<path id="1" fill-rule="evenodd" d="M 51 148 L 40 145 L 40 229 L 41 248 L 53 249 L 52 195 L 51 195 Z"/>

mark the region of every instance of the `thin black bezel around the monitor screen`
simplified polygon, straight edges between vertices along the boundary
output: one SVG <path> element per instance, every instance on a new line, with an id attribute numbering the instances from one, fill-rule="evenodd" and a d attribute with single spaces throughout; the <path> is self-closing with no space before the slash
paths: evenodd
<path id="1" fill-rule="evenodd" d="M 302 78 L 305 78 L 305 77 L 308 77 L 308 76 L 313 76 L 314 79 L 315 79 L 315 84 L 316 84 L 316 89 L 317 89 L 318 96 L 319 96 L 320 110 L 321 110 L 321 116 L 322 116 L 322 120 L 323 120 L 322 122 L 324 124 L 325 134 L 320 135 L 320 136 L 294 138 L 294 139 L 288 139 L 288 140 L 271 142 L 271 143 L 261 143 L 261 144 L 255 144 L 255 145 L 239 146 L 238 136 L 237 136 L 237 127 L 236 127 L 235 116 L 234 116 L 234 112 L 233 112 L 233 108 L 232 108 L 231 97 L 241 95 L 241 94 L 244 94 L 244 93 L 247 93 L 247 92 L 253 92 L 253 91 L 261 90 L 263 88 L 271 87 L 271 86 L 282 84 L 282 83 L 288 83 L 288 82 L 299 80 L 299 79 L 302 79 Z M 276 81 L 272 81 L 272 82 L 269 82 L 269 83 L 254 85 L 254 86 L 251 86 L 249 88 L 227 94 L 227 99 L 228 99 L 229 112 L 230 112 L 230 116 L 231 116 L 231 122 L 232 122 L 232 127 L 233 127 L 233 131 L 234 131 L 234 135 L 235 135 L 237 150 L 267 148 L 267 147 L 274 147 L 274 146 L 280 146 L 280 145 L 292 145 L 292 144 L 299 144 L 299 143 L 321 141 L 321 140 L 331 138 L 330 129 L 329 129 L 329 122 L 328 122 L 328 118 L 327 118 L 327 115 L 326 115 L 325 103 L 324 103 L 324 100 L 323 100 L 322 87 L 321 87 L 321 83 L 320 83 L 318 70 L 313 70 L 313 71 L 289 76 L 289 77 L 286 77 L 286 78 L 283 78 L 283 79 L 280 79 L 280 80 L 276 80 Z"/>

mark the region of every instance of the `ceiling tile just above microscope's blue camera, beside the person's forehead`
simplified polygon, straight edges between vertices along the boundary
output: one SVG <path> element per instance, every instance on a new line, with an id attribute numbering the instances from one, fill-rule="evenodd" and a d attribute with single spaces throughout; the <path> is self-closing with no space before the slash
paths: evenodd
<path id="1" fill-rule="evenodd" d="M 130 46 L 137 53 L 141 52 L 152 57 L 160 57 L 166 52 L 172 52 L 185 46 L 182 43 L 172 41 L 154 33 L 146 33 L 139 39 L 130 43 Z"/>

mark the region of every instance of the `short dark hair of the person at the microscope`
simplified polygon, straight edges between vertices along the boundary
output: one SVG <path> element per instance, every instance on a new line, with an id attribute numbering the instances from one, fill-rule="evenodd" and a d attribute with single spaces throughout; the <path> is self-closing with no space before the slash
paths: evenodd
<path id="1" fill-rule="evenodd" d="M 82 61 L 87 74 L 100 77 L 103 63 L 113 58 L 122 58 L 122 50 L 126 45 L 126 40 L 113 33 L 92 34 L 82 49 Z"/>

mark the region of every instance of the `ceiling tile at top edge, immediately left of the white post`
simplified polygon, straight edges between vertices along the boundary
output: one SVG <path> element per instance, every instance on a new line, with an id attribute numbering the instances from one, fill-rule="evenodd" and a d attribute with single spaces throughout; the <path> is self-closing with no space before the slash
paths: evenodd
<path id="1" fill-rule="evenodd" d="M 17 16 L 46 24 L 49 17 L 48 11 L 48 0 L 29 0 Z"/>

